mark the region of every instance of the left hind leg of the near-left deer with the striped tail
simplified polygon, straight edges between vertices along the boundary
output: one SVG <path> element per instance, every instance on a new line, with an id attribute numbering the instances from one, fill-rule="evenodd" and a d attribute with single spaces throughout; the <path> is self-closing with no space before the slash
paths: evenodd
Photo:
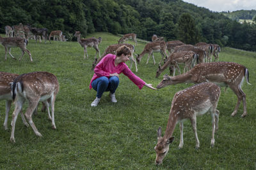
<path id="1" fill-rule="evenodd" d="M 12 134 L 11 134 L 11 138 L 10 141 L 15 143 L 15 138 L 14 138 L 14 131 L 15 131 L 15 124 L 16 124 L 16 120 L 17 117 L 19 115 L 20 110 L 22 109 L 22 105 L 24 103 L 24 99 L 21 97 L 18 97 L 17 101 L 15 102 L 15 110 L 12 113 Z"/>

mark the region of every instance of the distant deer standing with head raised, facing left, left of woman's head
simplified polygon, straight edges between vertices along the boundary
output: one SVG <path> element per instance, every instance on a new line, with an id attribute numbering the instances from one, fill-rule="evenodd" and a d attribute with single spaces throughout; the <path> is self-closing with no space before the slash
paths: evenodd
<path id="1" fill-rule="evenodd" d="M 88 47 L 93 47 L 96 50 L 94 59 L 96 59 L 97 53 L 99 53 L 99 57 L 100 57 L 99 44 L 102 41 L 101 37 L 81 39 L 80 38 L 81 37 L 80 31 L 76 31 L 74 36 L 76 36 L 78 43 L 84 48 L 84 59 L 85 59 L 85 53 L 86 53 L 87 59 L 89 59 L 88 53 L 87 53 L 87 46 Z"/>

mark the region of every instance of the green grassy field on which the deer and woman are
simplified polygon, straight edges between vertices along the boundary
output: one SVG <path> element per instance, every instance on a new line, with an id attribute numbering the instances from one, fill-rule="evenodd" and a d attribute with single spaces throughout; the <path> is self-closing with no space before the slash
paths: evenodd
<path id="1" fill-rule="evenodd" d="M 100 53 L 119 36 L 97 32 L 88 37 L 102 37 Z M 132 44 L 134 42 L 131 41 Z M 136 53 L 143 50 L 145 43 L 138 43 Z M 8 56 L 4 60 L 4 48 L 0 47 L 0 71 L 28 73 L 48 71 L 55 74 L 60 83 L 60 92 L 55 105 L 56 130 L 51 129 L 47 113 L 39 111 L 33 116 L 38 138 L 31 127 L 25 127 L 19 116 L 15 128 L 16 143 L 10 143 L 12 114 L 9 115 L 7 131 L 0 131 L 1 169 L 256 169 L 256 53 L 233 48 L 222 48 L 220 60 L 243 64 L 250 71 L 250 83 L 244 82 L 248 116 L 241 118 L 243 104 L 236 117 L 230 117 L 237 102 L 232 90 L 221 89 L 218 103 L 220 110 L 219 130 L 215 146 L 211 143 L 211 116 L 198 117 L 197 132 L 200 149 L 195 150 L 195 136 L 189 121 L 184 124 L 184 147 L 179 150 L 179 125 L 175 128 L 175 140 L 161 166 L 156 166 L 154 146 L 159 126 L 166 129 L 173 95 L 192 84 L 168 86 L 160 90 L 147 87 L 139 90 L 129 78 L 121 74 L 116 90 L 117 103 L 110 102 L 108 93 L 102 96 L 99 105 L 92 108 L 96 92 L 89 90 L 93 75 L 91 70 L 95 50 L 88 48 L 89 59 L 83 59 L 83 48 L 77 42 L 35 43 L 29 41 L 28 54 L 22 60 Z M 18 58 L 19 48 L 12 48 Z M 164 73 L 155 78 L 157 64 L 152 59 L 146 65 L 147 56 L 138 65 L 138 73 L 154 87 Z M 160 54 L 155 53 L 156 62 Z M 129 61 L 127 62 L 129 66 Z M 134 66 L 134 65 L 133 65 Z M 132 67 L 135 72 L 135 67 Z M 41 105 L 40 105 L 41 106 Z M 13 112 L 13 106 L 10 113 Z M 5 102 L 0 102 L 0 120 L 4 122 Z"/>

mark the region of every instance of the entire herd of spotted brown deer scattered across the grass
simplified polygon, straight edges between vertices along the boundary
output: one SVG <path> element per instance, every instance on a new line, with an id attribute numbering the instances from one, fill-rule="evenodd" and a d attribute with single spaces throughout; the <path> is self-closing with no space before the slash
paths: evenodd
<path id="1" fill-rule="evenodd" d="M 6 30 L 8 30 L 6 31 L 6 36 L 12 35 L 12 31 L 10 31 L 11 28 L 12 27 L 6 26 Z M 15 32 L 15 35 L 21 34 L 22 31 L 20 31 L 19 25 L 18 27 L 14 28 L 15 29 L 13 29 L 13 32 Z M 61 31 L 52 31 L 50 36 L 47 37 L 47 29 L 34 29 L 29 26 L 28 29 L 36 36 L 43 36 L 45 38 L 45 43 L 47 38 L 50 40 L 52 36 L 58 36 L 61 39 L 62 36 Z M 212 117 L 211 146 L 214 146 L 214 133 L 218 129 L 218 120 L 220 114 L 220 112 L 216 110 L 218 100 L 220 98 L 219 86 L 230 87 L 230 89 L 232 89 L 237 96 L 237 104 L 231 116 L 234 117 L 236 115 L 241 101 L 243 101 L 243 115 L 241 115 L 241 117 L 245 117 L 247 115 L 246 94 L 244 94 L 243 90 L 241 89 L 241 85 L 244 81 L 244 78 L 246 82 L 250 84 L 248 69 L 246 69 L 246 67 L 242 66 L 241 64 L 234 62 L 212 62 L 212 55 L 215 57 L 214 61 L 219 59 L 219 45 L 212 45 L 201 42 L 193 46 L 185 45 L 181 41 L 165 42 L 163 37 L 157 37 L 154 35 L 152 36 L 152 42 L 145 45 L 143 52 L 138 55 L 135 54 L 135 60 L 133 56 L 134 46 L 126 43 L 126 41 L 127 39 L 133 39 L 135 45 L 137 45 L 136 34 L 125 34 L 122 36 L 122 38 L 120 38 L 118 44 L 109 45 L 101 56 L 99 44 L 102 41 L 102 38 L 81 39 L 81 33 L 79 31 L 76 31 L 74 36 L 77 37 L 78 43 L 84 48 L 84 59 L 86 56 L 88 59 L 87 47 L 95 48 L 96 53 L 92 69 L 107 53 L 115 54 L 116 50 L 120 46 L 126 45 L 131 49 L 131 67 L 132 63 L 134 62 L 136 72 L 138 71 L 136 60 L 139 64 L 143 55 L 148 53 L 148 59 L 150 56 L 152 56 L 154 64 L 156 64 L 153 53 L 161 53 L 162 59 L 159 62 L 159 68 L 157 69 L 156 77 L 158 77 L 168 66 L 170 66 L 170 71 L 173 71 L 173 76 L 168 76 L 165 74 L 163 76 L 163 80 L 159 83 L 159 85 L 157 85 L 157 89 L 161 89 L 167 85 L 175 85 L 177 83 L 196 83 L 196 85 L 192 87 L 177 92 L 173 97 L 168 124 L 164 136 L 161 137 L 161 127 L 159 127 L 157 131 L 157 145 L 154 148 L 156 151 L 156 164 L 161 164 L 164 157 L 166 156 L 166 153 L 168 153 L 169 145 L 174 139 L 172 134 L 177 122 L 180 124 L 179 148 L 182 148 L 184 145 L 183 122 L 186 119 L 191 121 L 191 125 L 193 127 L 196 138 L 196 148 L 199 148 L 200 142 L 196 133 L 196 117 L 198 115 L 203 115 L 208 111 L 211 113 Z M 0 43 L 5 47 L 5 51 L 8 51 L 9 53 L 10 47 L 19 46 L 22 50 L 22 56 L 24 55 L 24 52 L 27 52 L 32 61 L 31 54 L 29 50 L 26 49 L 27 37 L 0 37 Z M 169 56 L 167 56 L 166 50 L 168 50 Z M 99 53 L 99 58 L 97 58 L 97 53 Z M 10 55 L 12 56 L 11 53 Z M 146 64 L 148 64 L 148 59 Z M 163 60 L 164 64 L 161 66 L 161 62 Z M 175 76 L 175 69 L 177 68 L 180 73 L 179 64 L 182 63 L 184 64 L 184 73 Z M 15 103 L 15 110 L 13 112 L 11 124 L 11 141 L 15 142 L 14 129 L 17 115 L 19 113 L 24 124 L 28 126 L 28 123 L 25 119 L 26 117 L 29 120 L 29 125 L 31 125 L 33 128 L 35 134 L 37 136 L 42 136 L 40 132 L 37 131 L 31 117 L 33 111 L 36 110 L 36 107 L 40 101 L 42 101 L 47 108 L 48 117 L 52 120 L 52 128 L 56 129 L 56 125 L 54 123 L 54 101 L 58 90 L 58 80 L 56 76 L 51 73 L 33 72 L 18 75 L 0 72 L 0 99 L 6 100 L 6 117 L 4 120 L 5 129 L 7 129 L 7 119 L 8 112 L 10 111 L 10 104 L 12 101 Z M 26 113 L 24 114 L 24 117 L 22 114 L 22 104 L 26 100 L 29 101 L 29 106 L 26 110 Z M 49 111 L 49 103 L 51 103 L 51 115 Z"/>

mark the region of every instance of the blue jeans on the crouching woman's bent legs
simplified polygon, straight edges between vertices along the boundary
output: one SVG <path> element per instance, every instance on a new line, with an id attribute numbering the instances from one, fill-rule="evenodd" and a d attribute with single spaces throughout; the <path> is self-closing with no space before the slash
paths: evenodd
<path id="1" fill-rule="evenodd" d="M 102 76 L 92 81 L 92 88 L 97 91 L 97 97 L 100 98 L 104 92 L 110 91 L 111 94 L 115 93 L 119 85 L 119 78 L 111 76 L 107 78 Z"/>

